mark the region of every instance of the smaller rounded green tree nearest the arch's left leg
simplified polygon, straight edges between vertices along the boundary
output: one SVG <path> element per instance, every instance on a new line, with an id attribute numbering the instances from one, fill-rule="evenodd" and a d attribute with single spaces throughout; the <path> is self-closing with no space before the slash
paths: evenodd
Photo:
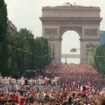
<path id="1" fill-rule="evenodd" d="M 32 55 L 34 58 L 33 68 L 42 69 L 51 63 L 51 48 L 46 38 L 36 38 L 32 49 Z"/>

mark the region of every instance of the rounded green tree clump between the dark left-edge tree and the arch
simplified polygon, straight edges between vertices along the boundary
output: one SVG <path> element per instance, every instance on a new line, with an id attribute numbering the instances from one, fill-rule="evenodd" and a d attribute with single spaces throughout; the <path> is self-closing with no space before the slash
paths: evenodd
<path id="1" fill-rule="evenodd" d="M 40 37 L 34 39 L 27 29 L 9 33 L 8 68 L 11 76 L 24 75 L 26 70 L 42 69 L 51 62 L 51 50 L 48 40 Z"/>

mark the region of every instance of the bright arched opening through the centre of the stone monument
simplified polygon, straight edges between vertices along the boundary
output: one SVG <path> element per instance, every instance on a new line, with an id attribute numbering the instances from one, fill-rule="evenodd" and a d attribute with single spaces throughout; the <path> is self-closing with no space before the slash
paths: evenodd
<path id="1" fill-rule="evenodd" d="M 74 30 L 64 32 L 62 36 L 61 62 L 80 64 L 80 36 Z"/>

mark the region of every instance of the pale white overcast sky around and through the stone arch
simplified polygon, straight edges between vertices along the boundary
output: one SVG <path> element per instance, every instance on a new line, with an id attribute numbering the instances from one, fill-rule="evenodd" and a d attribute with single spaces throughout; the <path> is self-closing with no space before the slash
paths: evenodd
<path id="1" fill-rule="evenodd" d="M 71 4 L 83 6 L 98 6 L 101 9 L 100 16 L 103 18 L 100 24 L 100 29 L 105 30 L 105 0 L 5 0 L 8 10 L 8 18 L 19 30 L 20 28 L 27 28 L 32 31 L 35 37 L 42 36 L 42 24 L 39 19 L 42 15 L 42 7 L 44 6 L 58 6 L 69 2 Z M 68 34 L 75 34 L 75 37 L 68 38 Z M 66 32 L 62 44 L 63 53 L 69 53 L 73 43 L 76 42 L 75 47 L 80 47 L 79 35 L 76 32 Z M 72 42 L 68 46 L 67 40 Z M 72 40 L 74 39 L 74 40 Z M 65 47 L 66 46 L 66 47 Z M 66 48 L 66 49 L 64 49 Z"/>

